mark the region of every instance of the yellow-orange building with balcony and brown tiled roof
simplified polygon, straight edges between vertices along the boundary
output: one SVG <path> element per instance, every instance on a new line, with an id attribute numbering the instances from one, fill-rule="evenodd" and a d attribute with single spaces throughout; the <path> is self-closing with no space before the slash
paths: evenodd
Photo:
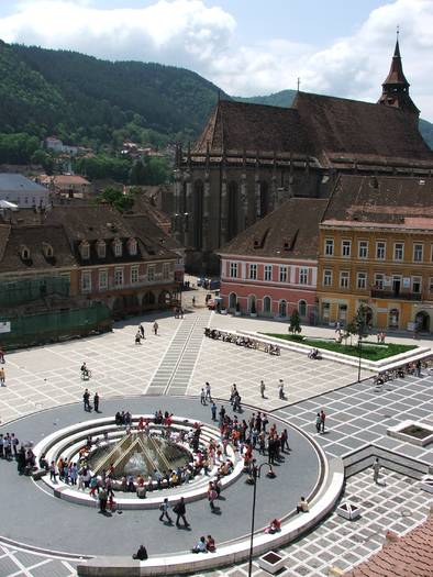
<path id="1" fill-rule="evenodd" d="M 432 179 L 341 177 L 320 225 L 320 320 L 360 303 L 373 328 L 433 330 Z"/>

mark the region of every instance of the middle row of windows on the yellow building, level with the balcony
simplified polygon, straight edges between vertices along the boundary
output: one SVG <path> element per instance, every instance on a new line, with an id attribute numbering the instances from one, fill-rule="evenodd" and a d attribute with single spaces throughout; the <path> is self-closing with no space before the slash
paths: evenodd
<path id="1" fill-rule="evenodd" d="M 333 270 L 323 270 L 323 286 L 331 287 L 333 285 Z M 338 277 L 338 287 L 342 289 L 348 289 L 351 285 L 351 273 L 348 270 L 341 270 Z M 367 273 L 356 273 L 356 288 L 365 290 L 368 287 L 368 275 Z M 382 290 L 389 287 L 391 290 L 400 291 L 401 288 L 411 289 L 412 292 L 421 292 L 422 290 L 422 278 L 421 277 L 402 277 L 401 275 L 392 275 L 388 277 L 384 273 L 375 273 L 374 275 L 374 288 Z M 430 292 L 433 292 L 433 277 L 430 278 Z"/>

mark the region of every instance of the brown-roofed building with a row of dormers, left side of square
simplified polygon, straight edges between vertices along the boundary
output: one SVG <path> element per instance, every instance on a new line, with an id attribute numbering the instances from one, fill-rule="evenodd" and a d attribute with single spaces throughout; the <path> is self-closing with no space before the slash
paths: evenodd
<path id="1" fill-rule="evenodd" d="M 14 296 L 18 281 L 37 288 L 38 280 L 42 289 L 29 289 L 29 301 L 99 301 L 114 319 L 178 301 L 178 255 L 160 242 L 163 231 L 146 235 L 106 206 L 55 207 L 43 217 L 37 224 L 18 218 L 0 225 L 0 282 L 11 307 L 25 304 Z"/>

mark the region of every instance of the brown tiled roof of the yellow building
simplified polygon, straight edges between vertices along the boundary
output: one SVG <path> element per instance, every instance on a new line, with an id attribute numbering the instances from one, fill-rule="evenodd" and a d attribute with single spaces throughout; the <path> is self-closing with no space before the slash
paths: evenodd
<path id="1" fill-rule="evenodd" d="M 323 221 L 403 224 L 409 218 L 433 218 L 433 178 L 341 176 Z"/>

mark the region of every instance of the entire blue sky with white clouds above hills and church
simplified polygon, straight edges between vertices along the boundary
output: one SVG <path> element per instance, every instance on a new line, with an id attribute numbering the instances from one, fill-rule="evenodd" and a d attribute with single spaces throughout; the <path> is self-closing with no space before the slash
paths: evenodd
<path id="1" fill-rule="evenodd" d="M 225 92 L 296 88 L 376 101 L 396 30 L 433 121 L 433 0 L 0 0 L 0 38 L 182 66 Z"/>

